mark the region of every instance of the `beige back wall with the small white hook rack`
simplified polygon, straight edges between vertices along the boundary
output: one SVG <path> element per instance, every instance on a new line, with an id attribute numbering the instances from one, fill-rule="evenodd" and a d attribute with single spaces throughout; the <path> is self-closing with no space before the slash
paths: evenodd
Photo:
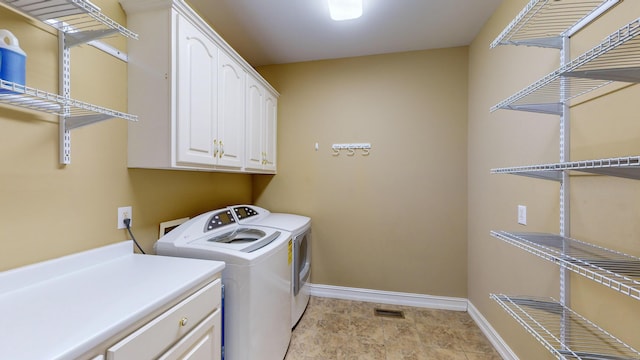
<path id="1" fill-rule="evenodd" d="M 311 216 L 312 282 L 466 297 L 467 48 L 260 72 L 281 93 L 279 164 L 254 197 Z M 371 154 L 332 156 L 351 142 Z"/>

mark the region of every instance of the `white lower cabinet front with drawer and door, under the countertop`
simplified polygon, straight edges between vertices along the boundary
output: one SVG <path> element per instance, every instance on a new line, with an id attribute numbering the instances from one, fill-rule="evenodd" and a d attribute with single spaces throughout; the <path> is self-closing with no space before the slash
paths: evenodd
<path id="1" fill-rule="evenodd" d="M 166 310 L 106 352 L 107 360 L 221 358 L 221 280 Z"/>

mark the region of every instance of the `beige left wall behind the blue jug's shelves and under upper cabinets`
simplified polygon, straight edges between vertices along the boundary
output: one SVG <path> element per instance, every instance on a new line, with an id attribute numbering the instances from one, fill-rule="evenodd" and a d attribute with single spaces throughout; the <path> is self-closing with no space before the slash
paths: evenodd
<path id="1" fill-rule="evenodd" d="M 94 1 L 125 23 L 117 1 Z M 27 86 L 57 93 L 57 36 L 0 7 L 27 53 Z M 125 49 L 123 39 L 108 40 Z M 71 52 L 71 94 L 127 111 L 126 63 L 90 46 Z M 128 170 L 127 124 L 114 119 L 72 131 L 71 164 L 58 162 L 58 119 L 0 105 L 0 270 L 128 238 L 116 209 L 133 206 L 133 230 L 152 250 L 161 221 L 251 201 L 251 176 Z"/>

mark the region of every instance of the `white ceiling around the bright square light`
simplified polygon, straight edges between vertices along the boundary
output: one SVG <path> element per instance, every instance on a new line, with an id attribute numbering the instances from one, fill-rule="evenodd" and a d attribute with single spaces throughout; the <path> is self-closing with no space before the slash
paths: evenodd
<path id="1" fill-rule="evenodd" d="M 364 0 L 336 22 L 326 0 L 187 0 L 251 65 L 469 45 L 502 0 Z"/>

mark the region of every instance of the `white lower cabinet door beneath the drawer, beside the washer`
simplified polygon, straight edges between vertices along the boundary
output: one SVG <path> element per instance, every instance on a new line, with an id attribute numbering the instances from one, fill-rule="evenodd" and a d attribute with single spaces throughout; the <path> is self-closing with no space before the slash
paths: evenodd
<path id="1" fill-rule="evenodd" d="M 220 360 L 221 326 L 221 311 L 218 309 L 165 352 L 159 360 Z"/>

